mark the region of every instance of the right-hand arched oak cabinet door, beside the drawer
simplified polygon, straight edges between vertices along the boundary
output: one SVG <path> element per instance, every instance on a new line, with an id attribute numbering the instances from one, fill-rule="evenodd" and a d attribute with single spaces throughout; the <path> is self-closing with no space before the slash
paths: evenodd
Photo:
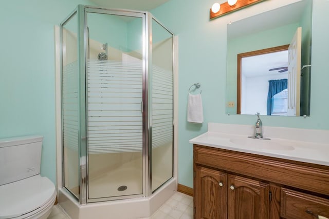
<path id="1" fill-rule="evenodd" d="M 269 218 L 269 185 L 228 175 L 228 219 Z"/>

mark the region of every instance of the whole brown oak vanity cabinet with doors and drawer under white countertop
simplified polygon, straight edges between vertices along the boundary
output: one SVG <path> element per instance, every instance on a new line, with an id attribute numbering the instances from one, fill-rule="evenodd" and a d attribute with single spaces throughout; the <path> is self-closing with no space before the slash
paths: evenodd
<path id="1" fill-rule="evenodd" d="M 318 215 L 329 218 L 329 167 L 194 145 L 195 219 Z"/>

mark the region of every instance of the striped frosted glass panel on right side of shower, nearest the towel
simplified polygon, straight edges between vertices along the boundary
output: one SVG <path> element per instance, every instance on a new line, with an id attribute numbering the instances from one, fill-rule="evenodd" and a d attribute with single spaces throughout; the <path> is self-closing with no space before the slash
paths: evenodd
<path id="1" fill-rule="evenodd" d="M 152 19 L 152 191 L 173 176 L 173 35 Z"/>

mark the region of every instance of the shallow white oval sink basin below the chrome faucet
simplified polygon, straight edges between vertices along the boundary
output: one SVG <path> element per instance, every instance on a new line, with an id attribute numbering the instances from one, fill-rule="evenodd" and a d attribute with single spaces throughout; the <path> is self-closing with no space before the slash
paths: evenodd
<path id="1" fill-rule="evenodd" d="M 248 137 L 245 138 L 237 137 L 237 138 L 231 138 L 230 142 L 240 146 L 265 149 L 265 150 L 284 150 L 284 151 L 295 150 L 293 144 L 279 140 L 260 140 L 260 139 L 253 139 Z"/>

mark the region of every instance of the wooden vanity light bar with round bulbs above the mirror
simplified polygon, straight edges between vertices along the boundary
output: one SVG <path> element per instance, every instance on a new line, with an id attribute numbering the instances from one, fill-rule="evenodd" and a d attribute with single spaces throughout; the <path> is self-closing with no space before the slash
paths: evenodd
<path id="1" fill-rule="evenodd" d="M 237 1 L 237 0 L 228 0 L 227 2 L 225 2 L 221 5 L 218 4 L 218 3 L 215 3 L 215 4 L 218 4 L 220 6 L 219 7 L 217 6 L 218 11 L 215 12 L 215 10 L 213 10 L 215 4 L 213 4 L 213 6 L 210 9 L 210 19 L 223 16 L 227 13 L 230 13 L 230 12 L 233 12 L 233 11 L 236 11 L 236 10 L 240 10 L 240 9 L 245 8 L 247 6 L 250 6 L 250 5 L 253 5 L 253 4 L 256 4 L 256 3 L 260 3 L 260 2 L 263 2 L 263 1 L 265 1 L 265 0 L 239 0 L 239 1 Z"/>

